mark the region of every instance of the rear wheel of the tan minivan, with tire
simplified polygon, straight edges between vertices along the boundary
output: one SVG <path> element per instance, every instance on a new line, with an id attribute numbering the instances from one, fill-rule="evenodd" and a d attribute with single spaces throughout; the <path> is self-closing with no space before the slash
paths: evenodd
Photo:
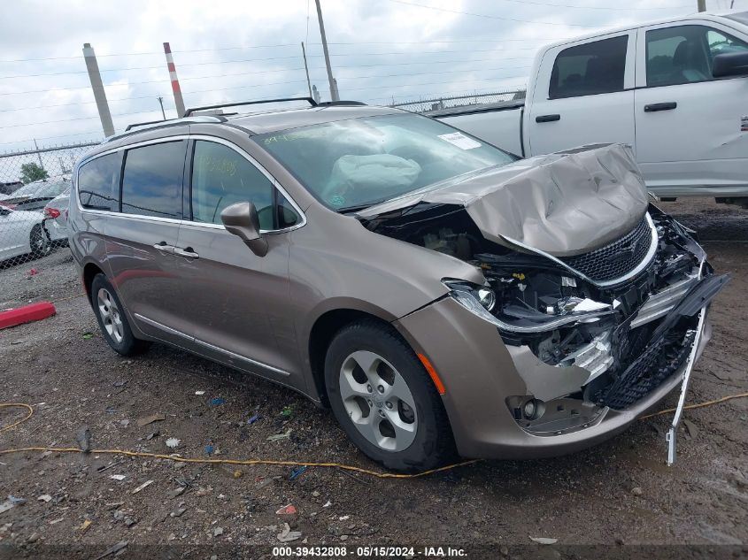
<path id="1" fill-rule="evenodd" d="M 135 338 L 117 292 L 104 274 L 96 274 L 91 283 L 91 303 L 104 340 L 122 356 L 142 354 L 149 341 Z"/>

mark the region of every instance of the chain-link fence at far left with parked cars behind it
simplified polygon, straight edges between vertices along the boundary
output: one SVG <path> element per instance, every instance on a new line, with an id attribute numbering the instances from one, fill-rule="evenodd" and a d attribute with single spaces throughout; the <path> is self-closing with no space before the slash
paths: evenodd
<path id="1" fill-rule="evenodd" d="M 35 277 L 73 268 L 66 249 L 71 173 L 96 144 L 0 153 L 0 311 L 51 297 Z"/>

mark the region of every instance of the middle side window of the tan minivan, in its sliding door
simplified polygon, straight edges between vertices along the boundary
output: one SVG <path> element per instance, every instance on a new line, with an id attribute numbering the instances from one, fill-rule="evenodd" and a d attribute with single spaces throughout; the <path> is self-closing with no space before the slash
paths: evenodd
<path id="1" fill-rule="evenodd" d="M 127 150 L 122 211 L 181 219 L 181 183 L 187 142 L 165 142 Z"/>

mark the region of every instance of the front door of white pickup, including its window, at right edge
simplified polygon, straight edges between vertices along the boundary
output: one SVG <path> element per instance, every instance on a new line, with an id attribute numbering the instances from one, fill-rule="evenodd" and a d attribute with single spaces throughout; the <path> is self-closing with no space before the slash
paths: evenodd
<path id="1" fill-rule="evenodd" d="M 714 79 L 748 36 L 714 21 L 643 27 L 637 40 L 636 155 L 660 196 L 730 196 L 748 187 L 748 77 Z"/>

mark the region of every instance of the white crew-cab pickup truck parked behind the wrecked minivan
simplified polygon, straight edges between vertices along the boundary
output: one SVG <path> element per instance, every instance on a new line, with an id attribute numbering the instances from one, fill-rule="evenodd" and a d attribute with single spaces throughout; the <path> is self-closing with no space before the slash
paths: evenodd
<path id="1" fill-rule="evenodd" d="M 748 12 L 557 42 L 526 99 L 426 114 L 523 157 L 630 144 L 654 195 L 748 203 Z"/>

